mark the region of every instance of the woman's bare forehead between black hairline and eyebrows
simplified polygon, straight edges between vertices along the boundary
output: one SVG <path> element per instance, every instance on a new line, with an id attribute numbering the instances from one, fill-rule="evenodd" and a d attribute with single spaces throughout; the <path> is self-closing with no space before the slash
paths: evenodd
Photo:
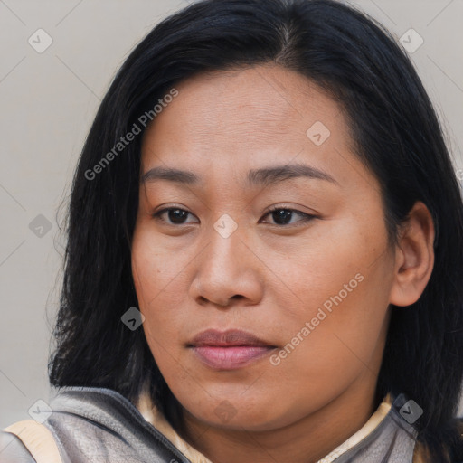
<path id="1" fill-rule="evenodd" d="M 195 75 L 175 85 L 178 95 L 148 126 L 146 168 L 169 164 L 202 169 L 284 164 L 311 157 L 335 162 L 350 137 L 338 104 L 296 71 L 260 65 Z M 314 129 L 312 129 L 314 128 Z M 327 137 L 314 143 L 314 132 Z M 331 146 L 331 148 L 329 148 Z"/>

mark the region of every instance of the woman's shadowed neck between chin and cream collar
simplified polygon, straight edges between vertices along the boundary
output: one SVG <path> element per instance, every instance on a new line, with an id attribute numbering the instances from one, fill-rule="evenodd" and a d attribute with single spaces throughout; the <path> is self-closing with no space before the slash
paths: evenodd
<path id="1" fill-rule="evenodd" d="M 364 426 L 378 407 L 373 373 L 309 416 L 277 430 L 213 428 L 184 412 L 183 438 L 213 463 L 315 463 Z M 372 387 L 373 386 L 373 387 Z"/>

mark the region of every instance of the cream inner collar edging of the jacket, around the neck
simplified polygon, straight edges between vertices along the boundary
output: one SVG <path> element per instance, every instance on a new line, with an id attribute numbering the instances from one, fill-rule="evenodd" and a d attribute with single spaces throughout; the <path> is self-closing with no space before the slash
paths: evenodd
<path id="1" fill-rule="evenodd" d="M 201 452 L 194 449 L 177 434 L 169 422 L 165 420 L 161 411 L 159 411 L 156 408 L 156 405 L 151 402 L 147 392 L 140 394 L 136 406 L 145 420 L 151 423 L 157 430 L 162 432 L 165 437 L 169 439 L 192 463 L 213 463 L 209 458 L 204 457 Z M 336 447 L 333 451 L 326 455 L 326 457 L 318 460 L 317 463 L 331 463 L 335 461 L 336 458 L 345 454 L 347 450 L 352 449 L 379 426 L 389 411 L 391 411 L 391 407 L 392 396 L 388 393 L 384 397 L 383 402 L 380 403 L 376 411 L 373 412 L 373 415 L 364 423 L 364 426 L 362 426 L 360 430 L 357 430 L 350 438 L 346 439 L 345 442 Z M 419 462 L 420 459 L 417 459 L 417 461 Z"/>

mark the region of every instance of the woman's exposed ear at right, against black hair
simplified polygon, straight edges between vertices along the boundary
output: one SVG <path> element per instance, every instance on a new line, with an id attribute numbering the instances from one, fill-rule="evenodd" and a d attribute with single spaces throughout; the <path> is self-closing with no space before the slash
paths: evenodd
<path id="1" fill-rule="evenodd" d="M 433 266 L 434 222 L 426 205 L 418 201 L 401 226 L 389 302 L 395 306 L 416 302 L 430 280 Z"/>

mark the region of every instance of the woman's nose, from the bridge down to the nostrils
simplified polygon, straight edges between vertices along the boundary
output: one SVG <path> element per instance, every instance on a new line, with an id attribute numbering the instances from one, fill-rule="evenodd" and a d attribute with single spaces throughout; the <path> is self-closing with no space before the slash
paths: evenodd
<path id="1" fill-rule="evenodd" d="M 220 230 L 220 229 L 219 229 Z M 264 265 L 243 227 L 230 236 L 211 227 L 205 247 L 194 260 L 190 296 L 199 305 L 231 307 L 258 304 L 263 294 Z"/>

